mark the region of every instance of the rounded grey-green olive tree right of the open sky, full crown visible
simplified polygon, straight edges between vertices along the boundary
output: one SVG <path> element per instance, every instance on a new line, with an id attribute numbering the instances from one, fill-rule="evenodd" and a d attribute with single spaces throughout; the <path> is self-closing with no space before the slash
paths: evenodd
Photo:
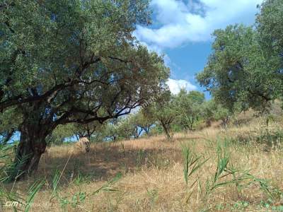
<path id="1" fill-rule="evenodd" d="M 197 80 L 229 111 L 265 110 L 277 96 L 280 74 L 270 69 L 252 27 L 214 31 L 213 52 Z M 282 77 L 282 76 L 281 76 Z"/>

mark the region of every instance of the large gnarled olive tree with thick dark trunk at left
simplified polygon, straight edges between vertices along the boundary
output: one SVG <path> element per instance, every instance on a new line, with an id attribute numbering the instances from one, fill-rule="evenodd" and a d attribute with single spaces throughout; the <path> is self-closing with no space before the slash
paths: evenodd
<path id="1" fill-rule="evenodd" d="M 21 117 L 10 179 L 36 170 L 58 125 L 103 123 L 166 88 L 163 59 L 132 35 L 149 14 L 147 0 L 1 1 L 0 111 Z"/>

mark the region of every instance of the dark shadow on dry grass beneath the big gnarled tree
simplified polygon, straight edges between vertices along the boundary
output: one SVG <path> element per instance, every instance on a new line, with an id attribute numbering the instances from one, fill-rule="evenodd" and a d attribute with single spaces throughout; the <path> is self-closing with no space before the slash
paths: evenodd
<path id="1" fill-rule="evenodd" d="M 168 159 L 170 155 L 170 159 Z M 88 153 L 44 154 L 31 181 L 46 179 L 52 184 L 56 172 L 62 172 L 60 185 L 77 181 L 105 181 L 118 172 L 126 174 L 141 167 L 166 168 L 180 160 L 180 151 L 173 148 L 125 148 L 122 143 L 93 145 Z M 66 166 L 66 167 L 65 167 Z"/>

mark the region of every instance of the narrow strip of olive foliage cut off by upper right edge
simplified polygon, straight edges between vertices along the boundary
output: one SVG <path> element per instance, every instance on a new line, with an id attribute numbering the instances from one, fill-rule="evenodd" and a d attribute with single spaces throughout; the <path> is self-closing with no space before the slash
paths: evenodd
<path id="1" fill-rule="evenodd" d="M 258 40 L 265 58 L 267 69 L 272 73 L 273 86 L 276 88 L 273 98 L 283 97 L 283 2 L 267 0 L 260 6 L 256 18 Z"/>

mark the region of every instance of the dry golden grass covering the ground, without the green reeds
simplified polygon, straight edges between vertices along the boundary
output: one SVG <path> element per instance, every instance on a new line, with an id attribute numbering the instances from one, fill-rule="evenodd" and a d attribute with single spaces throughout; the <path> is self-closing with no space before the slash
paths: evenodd
<path id="1" fill-rule="evenodd" d="M 13 189 L 25 195 L 35 179 L 47 180 L 34 201 L 37 204 L 47 203 L 47 206 L 34 207 L 31 211 L 266 211 L 260 208 L 260 204 L 267 202 L 268 197 L 257 184 L 251 184 L 241 191 L 234 184 L 229 184 L 215 189 L 212 194 L 205 194 L 205 184 L 216 171 L 217 141 L 224 141 L 224 138 L 236 141 L 236 138 L 259 131 L 260 125 L 257 124 L 227 130 L 212 127 L 175 134 L 173 142 L 166 141 L 164 136 L 155 136 L 117 143 L 97 143 L 91 145 L 87 155 L 73 151 L 71 145 L 55 146 L 42 157 L 37 174 L 25 182 L 16 183 Z M 192 196 L 188 201 L 180 143 L 187 143 L 194 153 L 209 158 L 189 178 L 189 185 L 196 179 L 198 181 L 190 189 Z M 283 190 L 282 150 L 267 150 L 261 144 L 233 141 L 230 141 L 227 150 L 231 166 L 250 170 L 250 174 L 256 177 L 270 179 L 273 187 Z M 50 200 L 54 172 L 63 169 L 58 196 Z M 122 173 L 122 178 L 109 186 L 115 191 L 102 190 L 93 194 L 117 172 Z M 8 189 L 11 189 L 11 185 Z M 242 203 L 246 205 L 242 206 Z M 283 203 L 277 201 L 274 204 Z"/>

